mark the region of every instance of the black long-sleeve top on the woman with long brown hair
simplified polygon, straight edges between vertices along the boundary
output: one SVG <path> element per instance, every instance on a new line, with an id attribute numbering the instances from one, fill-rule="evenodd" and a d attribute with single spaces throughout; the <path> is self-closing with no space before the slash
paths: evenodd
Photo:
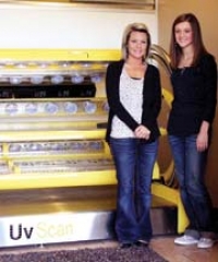
<path id="1" fill-rule="evenodd" d="M 213 123 L 217 104 L 217 64 L 209 53 L 195 67 L 175 69 L 171 74 L 173 102 L 168 133 L 186 136 L 199 132 L 205 120 Z"/>

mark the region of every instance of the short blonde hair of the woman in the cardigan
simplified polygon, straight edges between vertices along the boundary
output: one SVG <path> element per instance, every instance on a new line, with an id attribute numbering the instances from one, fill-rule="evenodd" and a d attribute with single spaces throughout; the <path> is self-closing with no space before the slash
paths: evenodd
<path id="1" fill-rule="evenodd" d="M 122 36 L 122 46 L 121 46 L 122 59 L 126 60 L 126 58 L 129 56 L 128 43 L 129 43 L 132 32 L 141 32 L 141 33 L 145 33 L 147 35 L 147 48 L 146 48 L 145 57 L 143 58 L 143 60 L 145 61 L 145 59 L 149 55 L 152 39 L 150 39 L 150 34 L 149 34 L 147 26 L 143 23 L 132 23 L 125 27 L 125 29 L 123 32 L 123 36 Z"/>

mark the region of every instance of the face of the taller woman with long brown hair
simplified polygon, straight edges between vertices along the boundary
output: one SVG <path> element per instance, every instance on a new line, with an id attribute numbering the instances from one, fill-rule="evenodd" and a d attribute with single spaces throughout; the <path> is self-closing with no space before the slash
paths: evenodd
<path id="1" fill-rule="evenodd" d="M 189 22 L 181 22 L 174 26 L 175 43 L 185 48 L 193 45 L 193 31 Z"/>

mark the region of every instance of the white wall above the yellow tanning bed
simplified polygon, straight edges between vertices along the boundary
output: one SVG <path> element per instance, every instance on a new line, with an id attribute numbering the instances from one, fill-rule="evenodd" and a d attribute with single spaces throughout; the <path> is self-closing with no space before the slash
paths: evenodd
<path id="1" fill-rule="evenodd" d="M 120 48 L 133 22 L 157 44 L 156 12 L 0 3 L 0 48 Z"/>

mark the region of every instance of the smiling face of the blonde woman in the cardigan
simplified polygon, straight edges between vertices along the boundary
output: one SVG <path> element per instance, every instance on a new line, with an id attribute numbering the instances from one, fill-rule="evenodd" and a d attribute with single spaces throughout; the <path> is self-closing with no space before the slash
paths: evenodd
<path id="1" fill-rule="evenodd" d="M 147 49 L 147 35 L 143 32 L 132 32 L 128 41 L 128 53 L 132 58 L 145 57 Z"/>

